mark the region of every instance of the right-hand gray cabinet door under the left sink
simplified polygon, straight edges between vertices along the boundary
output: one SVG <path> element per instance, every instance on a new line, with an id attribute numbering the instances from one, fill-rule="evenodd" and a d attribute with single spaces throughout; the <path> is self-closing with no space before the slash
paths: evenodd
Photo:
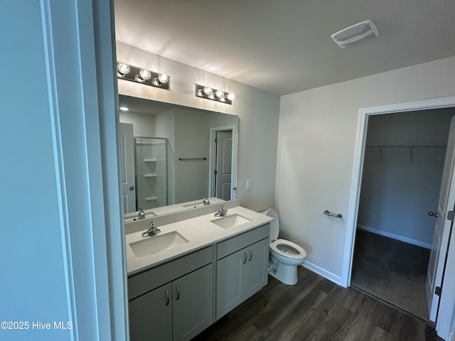
<path id="1" fill-rule="evenodd" d="M 191 340 L 213 323 L 213 265 L 172 282 L 173 341 Z"/>

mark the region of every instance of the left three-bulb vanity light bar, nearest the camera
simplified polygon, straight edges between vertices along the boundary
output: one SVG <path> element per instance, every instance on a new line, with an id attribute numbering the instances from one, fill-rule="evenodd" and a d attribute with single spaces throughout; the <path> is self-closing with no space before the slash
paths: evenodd
<path id="1" fill-rule="evenodd" d="M 169 76 L 164 73 L 153 72 L 149 69 L 142 69 L 129 65 L 127 63 L 117 63 L 117 77 L 122 80 L 131 80 L 152 87 L 160 87 L 161 89 L 169 90 Z"/>

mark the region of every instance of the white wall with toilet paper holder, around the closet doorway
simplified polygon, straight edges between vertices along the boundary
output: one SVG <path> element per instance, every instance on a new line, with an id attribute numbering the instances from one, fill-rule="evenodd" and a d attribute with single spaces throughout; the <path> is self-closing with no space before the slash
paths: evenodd
<path id="1" fill-rule="evenodd" d="M 359 108 L 454 96 L 455 57 L 283 96 L 276 207 L 306 266 L 341 283 Z M 341 213 L 336 219 L 324 210 Z M 347 256 L 346 256 L 347 257 Z"/>

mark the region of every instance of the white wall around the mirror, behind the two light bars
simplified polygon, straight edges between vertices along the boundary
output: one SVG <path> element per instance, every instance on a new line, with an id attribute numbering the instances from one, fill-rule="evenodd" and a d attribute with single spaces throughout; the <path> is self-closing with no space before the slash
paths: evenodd
<path id="1" fill-rule="evenodd" d="M 252 210 L 265 210 L 274 205 L 278 96 L 118 41 L 117 60 L 171 76 L 170 91 L 119 80 L 119 94 L 238 115 L 237 197 L 242 206 Z M 233 104 L 196 97 L 196 83 L 234 92 Z M 245 189 L 247 179 L 252 179 L 251 190 Z"/>

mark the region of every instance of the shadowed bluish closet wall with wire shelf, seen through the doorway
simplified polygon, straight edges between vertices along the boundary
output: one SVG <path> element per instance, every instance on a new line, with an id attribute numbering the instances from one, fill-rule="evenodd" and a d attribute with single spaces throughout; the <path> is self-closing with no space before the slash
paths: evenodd
<path id="1" fill-rule="evenodd" d="M 430 248 L 453 108 L 374 115 L 368 133 L 358 227 Z"/>

